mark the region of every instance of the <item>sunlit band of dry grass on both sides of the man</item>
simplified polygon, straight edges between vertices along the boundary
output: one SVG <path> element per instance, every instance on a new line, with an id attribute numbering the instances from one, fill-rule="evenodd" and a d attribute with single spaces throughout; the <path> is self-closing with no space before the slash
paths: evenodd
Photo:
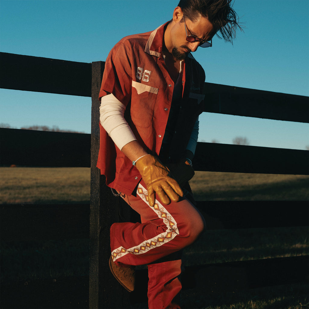
<path id="1" fill-rule="evenodd" d="M 309 178 L 197 171 L 190 181 L 197 201 L 300 201 L 309 199 Z M 0 167 L 0 203 L 90 201 L 90 168 Z"/>

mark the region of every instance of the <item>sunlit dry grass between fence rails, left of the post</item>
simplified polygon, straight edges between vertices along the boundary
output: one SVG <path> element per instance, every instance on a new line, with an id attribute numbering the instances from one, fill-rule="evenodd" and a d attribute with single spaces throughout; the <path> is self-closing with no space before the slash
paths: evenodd
<path id="1" fill-rule="evenodd" d="M 89 203 L 90 168 L 0 167 L 1 204 Z"/>

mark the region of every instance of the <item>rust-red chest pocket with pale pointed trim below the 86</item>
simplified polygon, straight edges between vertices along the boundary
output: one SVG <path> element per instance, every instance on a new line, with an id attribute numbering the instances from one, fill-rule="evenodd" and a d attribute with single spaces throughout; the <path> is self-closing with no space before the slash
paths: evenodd
<path id="1" fill-rule="evenodd" d="M 132 81 L 131 119 L 137 127 L 150 126 L 159 88 Z"/>

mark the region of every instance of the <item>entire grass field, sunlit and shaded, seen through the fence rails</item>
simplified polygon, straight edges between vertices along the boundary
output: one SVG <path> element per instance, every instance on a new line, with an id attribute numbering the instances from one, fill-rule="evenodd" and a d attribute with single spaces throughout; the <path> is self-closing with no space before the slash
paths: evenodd
<path id="1" fill-rule="evenodd" d="M 196 172 L 190 184 L 197 200 L 308 200 L 308 176 Z M 2 204 L 89 203 L 90 169 L 1 167 L 0 189 Z M 2 242 L 1 281 L 87 275 L 88 245 L 88 239 Z M 183 260 L 193 265 L 196 252 L 202 253 L 196 264 L 211 264 L 308 255 L 308 249 L 307 227 L 214 230 L 187 248 Z M 309 308 L 306 284 L 204 294 L 184 291 L 183 308 Z"/>

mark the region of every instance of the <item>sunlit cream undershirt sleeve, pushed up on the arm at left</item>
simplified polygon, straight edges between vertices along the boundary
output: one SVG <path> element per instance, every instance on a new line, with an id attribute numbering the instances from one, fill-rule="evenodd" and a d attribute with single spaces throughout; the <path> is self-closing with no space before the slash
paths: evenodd
<path id="1" fill-rule="evenodd" d="M 100 123 L 121 150 L 127 143 L 135 141 L 136 137 L 125 120 L 125 105 L 111 93 L 101 99 Z"/>

